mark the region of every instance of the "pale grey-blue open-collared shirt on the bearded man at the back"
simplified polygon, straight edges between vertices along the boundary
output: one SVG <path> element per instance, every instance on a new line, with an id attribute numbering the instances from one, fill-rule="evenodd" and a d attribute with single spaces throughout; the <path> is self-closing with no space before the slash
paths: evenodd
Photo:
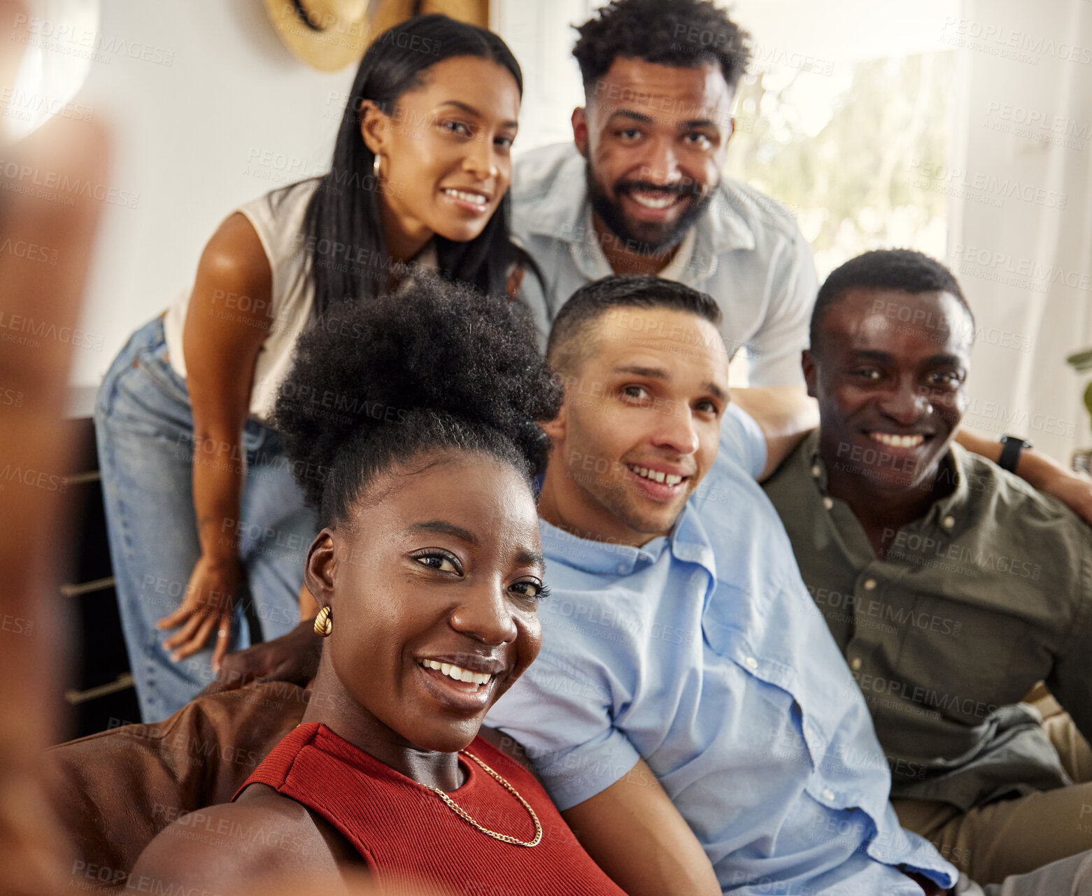
<path id="1" fill-rule="evenodd" d="M 592 226 L 585 170 L 566 143 L 523 154 L 512 171 L 512 239 L 543 278 L 526 272 L 520 298 L 544 337 L 579 287 L 612 273 Z M 716 300 L 728 345 L 747 346 L 750 385 L 803 385 L 800 349 L 819 286 L 796 220 L 769 196 L 723 178 L 691 234 L 687 258 L 661 276 Z"/>

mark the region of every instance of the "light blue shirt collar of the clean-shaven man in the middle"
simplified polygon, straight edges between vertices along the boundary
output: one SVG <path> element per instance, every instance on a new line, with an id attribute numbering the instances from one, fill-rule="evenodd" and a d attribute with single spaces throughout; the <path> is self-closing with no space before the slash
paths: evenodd
<path id="1" fill-rule="evenodd" d="M 713 549 L 693 509 L 687 504 L 666 536 L 653 538 L 640 548 L 612 541 L 581 538 L 539 517 L 543 553 L 547 561 L 555 560 L 598 575 L 629 575 L 660 561 L 664 551 L 686 563 L 698 563 L 716 577 Z"/>

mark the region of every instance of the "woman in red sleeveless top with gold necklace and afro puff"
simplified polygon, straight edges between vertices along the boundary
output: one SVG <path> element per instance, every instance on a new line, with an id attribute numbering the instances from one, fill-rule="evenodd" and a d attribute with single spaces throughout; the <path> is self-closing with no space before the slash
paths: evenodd
<path id="1" fill-rule="evenodd" d="M 302 336 L 275 418 L 321 526 L 312 696 L 234 802 L 163 831 L 130 887 L 364 865 L 395 889 L 621 893 L 477 736 L 538 653 L 535 421 L 559 403 L 522 309 L 450 284 L 337 308 Z"/>

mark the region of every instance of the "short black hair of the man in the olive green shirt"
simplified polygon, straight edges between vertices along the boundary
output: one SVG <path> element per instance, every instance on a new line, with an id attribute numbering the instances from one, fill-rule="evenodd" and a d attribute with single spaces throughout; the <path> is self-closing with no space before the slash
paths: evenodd
<path id="1" fill-rule="evenodd" d="M 809 341 L 811 350 L 819 348 L 819 333 L 827 312 L 851 289 L 899 289 L 918 292 L 950 292 L 971 320 L 974 331 L 974 312 L 968 304 L 959 280 L 943 264 L 913 249 L 875 249 L 835 267 L 819 287 L 811 309 Z"/>

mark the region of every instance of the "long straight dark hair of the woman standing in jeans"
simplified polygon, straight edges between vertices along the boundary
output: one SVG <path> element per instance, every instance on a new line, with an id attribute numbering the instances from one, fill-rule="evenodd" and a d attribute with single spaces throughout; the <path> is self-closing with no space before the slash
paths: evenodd
<path id="1" fill-rule="evenodd" d="M 370 99 L 385 115 L 423 74 L 444 59 L 473 56 L 503 65 L 523 95 L 523 73 L 512 51 L 492 32 L 446 15 L 419 15 L 383 32 L 360 60 L 342 116 L 330 171 L 318 184 L 304 220 L 307 262 L 314 284 L 314 315 L 342 299 L 367 299 L 387 291 L 390 258 L 380 217 L 375 154 L 360 136 L 359 109 Z M 511 199 L 501 200 L 485 229 L 468 242 L 436 235 L 437 262 L 448 279 L 483 292 L 502 292 L 519 256 L 509 240 Z"/>

